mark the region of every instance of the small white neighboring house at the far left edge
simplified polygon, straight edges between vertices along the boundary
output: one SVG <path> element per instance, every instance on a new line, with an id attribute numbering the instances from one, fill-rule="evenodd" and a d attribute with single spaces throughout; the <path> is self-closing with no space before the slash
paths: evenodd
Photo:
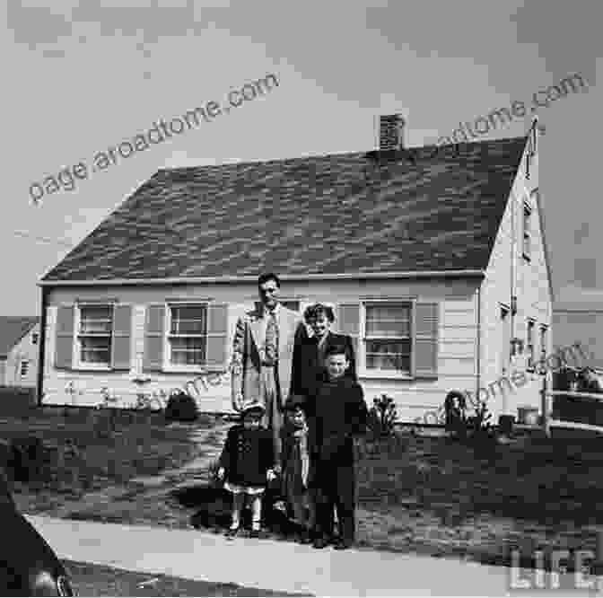
<path id="1" fill-rule="evenodd" d="M 35 388 L 39 318 L 0 316 L 0 386 Z"/>

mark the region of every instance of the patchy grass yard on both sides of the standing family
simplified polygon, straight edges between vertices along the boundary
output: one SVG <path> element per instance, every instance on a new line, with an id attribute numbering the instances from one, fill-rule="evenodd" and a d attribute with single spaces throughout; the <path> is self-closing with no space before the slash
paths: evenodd
<path id="1" fill-rule="evenodd" d="M 111 422 L 107 412 L 43 408 L 0 416 L 0 440 L 37 436 L 48 447 L 37 479 L 13 481 L 24 513 L 187 528 L 203 526 L 190 497 L 208 486 L 231 425 L 210 417 L 166 425 L 140 412 Z M 535 550 L 595 550 L 600 441 L 532 431 L 470 446 L 402 429 L 357 449 L 361 547 L 501 565 L 520 549 L 522 567 Z"/>

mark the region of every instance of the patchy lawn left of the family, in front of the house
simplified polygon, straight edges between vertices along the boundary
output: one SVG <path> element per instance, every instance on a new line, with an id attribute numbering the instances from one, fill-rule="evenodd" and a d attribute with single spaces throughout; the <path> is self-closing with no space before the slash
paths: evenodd
<path id="1" fill-rule="evenodd" d="M 161 413 L 92 409 L 39 408 L 0 417 L 4 442 L 35 436 L 47 449 L 40 475 L 12 480 L 23 512 L 76 516 L 108 502 L 103 513 L 96 513 L 97 518 L 107 514 L 108 521 L 122 521 L 120 502 L 140 506 L 135 498 L 148 489 L 148 479 L 154 477 L 159 485 L 182 482 L 187 464 L 207 451 L 199 438 L 205 434 L 210 444 L 217 443 L 219 428 L 214 429 L 214 418 L 168 425 Z M 153 496 L 144 498 L 148 503 Z M 155 507 L 158 519 L 165 514 L 162 502 Z"/>

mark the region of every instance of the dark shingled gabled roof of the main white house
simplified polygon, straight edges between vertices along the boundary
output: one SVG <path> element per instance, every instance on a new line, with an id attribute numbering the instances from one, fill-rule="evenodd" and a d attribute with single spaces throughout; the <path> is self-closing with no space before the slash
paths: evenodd
<path id="1" fill-rule="evenodd" d="M 485 270 L 526 142 L 158 171 L 42 280 Z"/>

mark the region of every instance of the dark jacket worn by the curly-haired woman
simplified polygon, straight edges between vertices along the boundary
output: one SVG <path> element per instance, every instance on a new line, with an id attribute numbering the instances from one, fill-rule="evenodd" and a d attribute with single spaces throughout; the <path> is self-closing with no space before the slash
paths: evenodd
<path id="1" fill-rule="evenodd" d="M 354 345 L 351 337 L 346 334 L 328 333 L 325 339 L 325 350 L 333 345 L 347 347 L 350 355 L 350 366 L 345 376 L 356 381 L 356 360 L 354 356 Z M 314 337 L 300 338 L 293 347 L 293 370 L 291 374 L 291 394 L 301 394 L 306 397 L 314 397 L 319 383 L 326 374 L 324 364 L 319 362 L 319 347 Z"/>

